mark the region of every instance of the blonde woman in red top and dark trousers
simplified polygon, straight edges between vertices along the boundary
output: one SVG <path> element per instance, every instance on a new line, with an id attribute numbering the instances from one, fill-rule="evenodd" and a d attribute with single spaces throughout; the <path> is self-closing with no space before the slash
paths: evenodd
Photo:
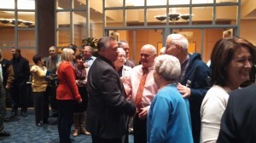
<path id="1" fill-rule="evenodd" d="M 75 102 L 82 102 L 75 80 L 75 71 L 72 66 L 73 54 L 73 49 L 63 49 L 61 52 L 61 63 L 57 65 L 59 85 L 56 91 L 56 99 L 58 101 L 58 131 L 61 143 L 71 142 L 70 131 Z"/>

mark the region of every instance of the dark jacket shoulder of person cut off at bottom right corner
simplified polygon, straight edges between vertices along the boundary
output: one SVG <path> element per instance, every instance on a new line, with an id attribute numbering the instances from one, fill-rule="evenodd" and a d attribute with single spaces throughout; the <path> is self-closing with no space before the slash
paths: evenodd
<path id="1" fill-rule="evenodd" d="M 221 119 L 218 143 L 254 143 L 256 141 L 256 84 L 230 93 Z"/>

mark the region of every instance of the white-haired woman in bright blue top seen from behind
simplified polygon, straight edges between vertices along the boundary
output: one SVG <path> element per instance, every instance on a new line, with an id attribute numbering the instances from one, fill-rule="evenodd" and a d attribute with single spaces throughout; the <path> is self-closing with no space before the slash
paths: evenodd
<path id="1" fill-rule="evenodd" d="M 192 143 L 189 100 L 177 90 L 180 63 L 172 55 L 154 60 L 154 82 L 159 88 L 148 112 L 147 140 L 153 142 Z"/>

